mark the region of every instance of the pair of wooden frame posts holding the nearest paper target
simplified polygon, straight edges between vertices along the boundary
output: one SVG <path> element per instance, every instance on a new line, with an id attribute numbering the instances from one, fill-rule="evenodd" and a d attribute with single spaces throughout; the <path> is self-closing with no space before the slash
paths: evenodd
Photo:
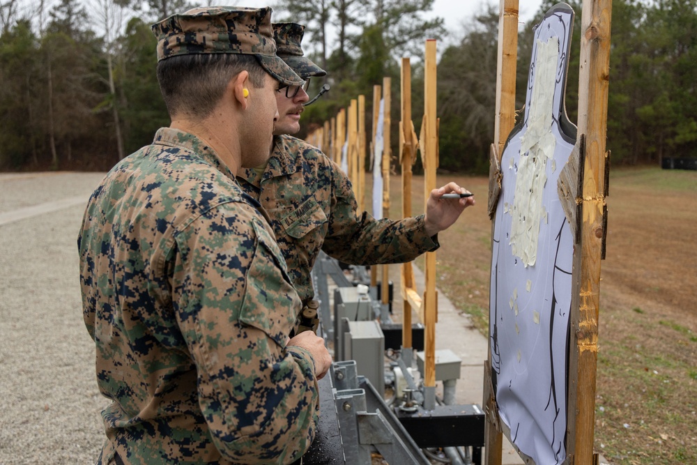
<path id="1" fill-rule="evenodd" d="M 593 453 L 595 430 L 595 380 L 599 317 L 600 260 L 604 256 L 608 153 L 605 151 L 611 0 L 584 0 L 581 15 L 581 69 L 579 73 L 579 119 L 576 146 L 577 169 L 560 176 L 561 197 L 571 212 L 575 233 L 567 371 L 567 422 L 562 463 L 597 464 Z M 491 146 L 489 213 L 496 211 L 500 195 L 501 158 L 515 121 L 515 75 L 518 0 L 501 0 L 499 16 L 498 72 L 494 142 Z M 569 174 L 570 173 L 570 174 Z M 562 182 L 563 181 L 563 182 Z M 562 192 L 564 191 L 565 192 Z M 492 237 L 495 224 L 492 224 Z M 491 318 L 491 315 L 490 315 Z M 492 383 L 492 354 L 484 365 L 484 410 L 487 465 L 500 465 L 503 434 L 512 432 L 500 418 Z M 513 442 L 513 441 L 512 441 Z M 533 457 L 519 451 L 526 463 Z M 542 465 L 542 464 L 540 464 Z"/>

